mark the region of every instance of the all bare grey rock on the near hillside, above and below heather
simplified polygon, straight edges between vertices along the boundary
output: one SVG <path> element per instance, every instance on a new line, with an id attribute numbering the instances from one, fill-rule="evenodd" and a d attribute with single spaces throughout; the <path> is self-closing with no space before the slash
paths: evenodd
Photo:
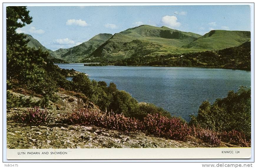
<path id="1" fill-rule="evenodd" d="M 28 98 L 26 95 L 13 95 Z M 60 118 L 80 108 L 91 111 L 100 109 L 91 102 L 84 103 L 82 99 L 63 93 L 56 93 L 59 99 L 52 103 L 52 109 L 47 109 L 51 120 L 46 125 L 31 126 L 17 123 L 13 116 L 20 116 L 30 108 L 7 109 L 7 148 L 143 148 L 143 147 L 217 147 L 189 136 L 183 141 L 158 138 L 143 132 L 122 132 L 108 130 L 94 125 L 60 124 Z M 40 101 L 40 98 L 31 98 Z M 54 108 L 55 107 L 55 108 Z M 18 114 L 18 115 L 17 115 Z M 219 147 L 236 147 L 235 145 L 220 143 Z"/>

